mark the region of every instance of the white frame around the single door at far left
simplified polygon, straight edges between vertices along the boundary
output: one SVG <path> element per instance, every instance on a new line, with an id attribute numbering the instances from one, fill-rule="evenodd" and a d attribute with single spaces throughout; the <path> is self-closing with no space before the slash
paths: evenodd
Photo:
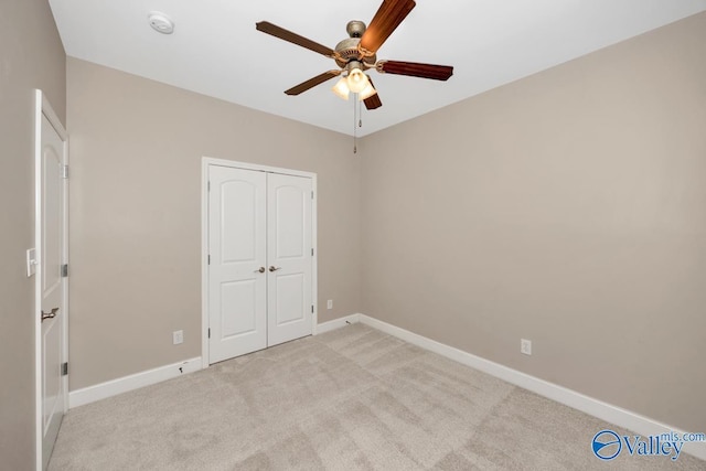
<path id="1" fill-rule="evenodd" d="M 45 116 L 56 133 L 62 139 L 64 165 L 68 165 L 68 133 L 62 125 L 61 119 L 52 108 L 46 95 L 40 89 L 35 89 L 35 119 L 34 119 L 34 248 L 35 248 L 35 272 L 34 272 L 34 427 L 35 427 L 35 468 L 43 469 L 43 397 L 42 397 L 42 117 Z M 62 261 L 68 264 L 68 179 L 64 179 L 62 191 L 64 201 L 62 204 L 63 246 Z M 62 282 L 62 331 L 63 349 L 61 363 L 68 362 L 68 277 Z M 64 389 L 64 414 L 68 410 L 68 375 L 62 376 L 62 388 Z"/>

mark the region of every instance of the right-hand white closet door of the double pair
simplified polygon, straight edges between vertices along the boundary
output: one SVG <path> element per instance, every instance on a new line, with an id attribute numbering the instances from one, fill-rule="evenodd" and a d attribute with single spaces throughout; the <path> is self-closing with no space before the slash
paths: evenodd
<path id="1" fill-rule="evenodd" d="M 267 176 L 267 345 L 312 331 L 311 179 Z"/>

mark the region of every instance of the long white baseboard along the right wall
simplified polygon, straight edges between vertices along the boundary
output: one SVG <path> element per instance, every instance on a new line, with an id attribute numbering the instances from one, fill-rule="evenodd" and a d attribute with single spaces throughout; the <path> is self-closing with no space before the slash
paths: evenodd
<path id="1" fill-rule="evenodd" d="M 660 435 L 668 431 L 683 432 L 682 430 L 661 424 L 651 418 L 641 416 L 633 411 L 613 406 L 602 400 L 595 399 L 573 389 L 539 379 L 526 373 L 503 366 L 490 360 L 482 358 L 459 349 L 446 345 L 426 336 L 388 324 L 365 314 L 356 314 L 357 320 L 366 325 L 396 336 L 405 342 L 417 345 L 421 349 L 438 353 L 441 356 L 462 363 L 472 368 L 488 373 L 492 376 L 506 381 L 507 383 L 532 390 L 541 396 L 556 400 L 557 403 L 578 409 L 582 413 L 597 417 L 607 422 L 617 425 L 642 436 Z M 596 430 L 598 432 L 600 430 Z M 689 430 L 692 432 L 706 432 L 706 430 Z M 587 439 L 590 440 L 590 437 Z M 587 447 L 589 446 L 587 441 Z M 686 443 L 682 450 L 702 460 L 706 460 L 706 442 Z"/>

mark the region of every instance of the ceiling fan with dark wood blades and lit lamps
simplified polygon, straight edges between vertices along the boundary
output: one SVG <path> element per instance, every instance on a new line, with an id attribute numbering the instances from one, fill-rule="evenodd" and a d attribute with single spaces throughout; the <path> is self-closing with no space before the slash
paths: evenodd
<path id="1" fill-rule="evenodd" d="M 383 0 L 383 4 L 373 17 L 370 26 L 366 28 L 362 21 L 349 22 L 345 30 L 350 38 L 341 41 L 334 50 L 267 21 L 260 21 L 255 26 L 258 31 L 331 57 L 340 67 L 302 82 L 286 90 L 287 95 L 299 95 L 333 77 L 343 75 L 333 87 L 333 92 L 343 99 L 349 99 L 351 92 L 357 94 L 359 99 L 365 103 L 367 109 L 376 109 L 383 103 L 371 77 L 365 74 L 368 68 L 375 68 L 384 74 L 409 75 L 436 81 L 448 81 L 453 75 L 453 67 L 449 65 L 377 61 L 377 50 L 415 7 L 414 0 Z"/>

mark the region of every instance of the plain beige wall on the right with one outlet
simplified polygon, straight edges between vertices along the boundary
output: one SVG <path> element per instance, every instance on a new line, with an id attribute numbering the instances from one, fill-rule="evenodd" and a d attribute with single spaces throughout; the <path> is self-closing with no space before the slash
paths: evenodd
<path id="1" fill-rule="evenodd" d="M 706 429 L 706 14 L 362 148 L 362 312 Z"/>

